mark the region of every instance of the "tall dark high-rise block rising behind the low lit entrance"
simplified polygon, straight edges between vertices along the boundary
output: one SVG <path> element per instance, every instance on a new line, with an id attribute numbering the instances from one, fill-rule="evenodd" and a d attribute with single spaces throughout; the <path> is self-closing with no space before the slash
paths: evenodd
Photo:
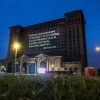
<path id="1" fill-rule="evenodd" d="M 64 14 L 64 18 L 22 27 L 10 27 L 8 62 L 14 58 L 12 44 L 18 41 L 21 49 L 17 57 L 30 58 L 43 53 L 48 56 L 61 56 L 65 69 L 68 64 L 87 66 L 85 19 L 81 10 Z"/>

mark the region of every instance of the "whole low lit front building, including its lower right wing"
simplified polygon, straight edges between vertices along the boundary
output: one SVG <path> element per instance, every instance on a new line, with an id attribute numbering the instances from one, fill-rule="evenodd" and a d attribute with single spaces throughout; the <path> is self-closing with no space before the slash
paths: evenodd
<path id="1" fill-rule="evenodd" d="M 76 72 L 80 71 L 81 67 L 82 64 L 80 62 L 63 63 L 62 56 L 48 56 L 42 53 L 33 58 L 22 55 L 16 62 L 16 72 L 25 74 L 38 74 L 56 71 Z"/>

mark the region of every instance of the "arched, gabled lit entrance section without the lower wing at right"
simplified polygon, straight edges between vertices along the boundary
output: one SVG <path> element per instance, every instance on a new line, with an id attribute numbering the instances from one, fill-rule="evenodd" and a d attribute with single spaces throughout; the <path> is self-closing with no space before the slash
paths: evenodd
<path id="1" fill-rule="evenodd" d="M 21 61 L 20 63 L 18 63 Z M 27 74 L 37 74 L 44 73 L 45 71 L 61 71 L 61 56 L 48 56 L 45 54 L 39 54 L 33 58 L 29 58 L 26 55 L 18 58 L 16 71 L 27 73 Z M 41 67 L 40 67 L 41 66 Z"/>

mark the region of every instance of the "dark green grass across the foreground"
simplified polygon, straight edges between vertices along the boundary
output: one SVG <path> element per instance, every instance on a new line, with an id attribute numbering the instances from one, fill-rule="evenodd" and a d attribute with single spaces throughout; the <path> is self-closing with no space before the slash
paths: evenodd
<path id="1" fill-rule="evenodd" d="M 2 76 L 0 100 L 100 100 L 100 78 Z"/>

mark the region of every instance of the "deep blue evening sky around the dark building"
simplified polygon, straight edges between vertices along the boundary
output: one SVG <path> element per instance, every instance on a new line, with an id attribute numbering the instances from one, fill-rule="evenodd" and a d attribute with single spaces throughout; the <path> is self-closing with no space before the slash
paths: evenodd
<path id="1" fill-rule="evenodd" d="M 82 10 L 86 21 L 88 66 L 100 67 L 100 0 L 0 0 L 0 59 L 7 57 L 10 26 L 28 26 Z"/>

